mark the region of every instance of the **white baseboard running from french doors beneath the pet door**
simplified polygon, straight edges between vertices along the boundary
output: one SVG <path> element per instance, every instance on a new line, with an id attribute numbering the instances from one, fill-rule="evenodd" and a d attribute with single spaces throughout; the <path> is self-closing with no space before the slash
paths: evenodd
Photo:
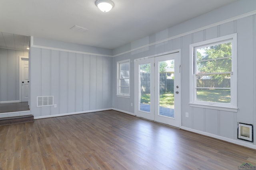
<path id="1" fill-rule="evenodd" d="M 184 126 L 181 126 L 180 129 L 184 129 L 184 130 L 186 130 L 186 131 L 191 131 L 191 132 L 194 132 L 194 133 L 199 133 L 199 134 L 201 134 L 201 135 L 213 137 L 213 138 L 216 138 L 216 139 L 220 139 L 220 140 L 222 140 L 222 141 L 234 143 L 234 144 L 236 144 L 236 145 L 241 145 L 241 146 L 244 146 L 244 147 L 256 149 L 256 145 L 253 145 L 252 143 L 249 143 L 249 142 L 246 142 L 246 141 L 238 141 L 238 140 L 234 140 L 234 139 L 230 139 L 230 138 L 226 138 L 226 137 L 214 135 L 214 134 L 212 134 L 212 133 L 203 132 L 203 131 L 198 131 L 198 130 L 191 129 L 191 128 L 184 127 Z"/>

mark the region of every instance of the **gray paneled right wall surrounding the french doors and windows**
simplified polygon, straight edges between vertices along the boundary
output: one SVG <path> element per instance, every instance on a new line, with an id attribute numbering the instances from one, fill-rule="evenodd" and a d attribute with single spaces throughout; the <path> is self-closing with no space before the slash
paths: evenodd
<path id="1" fill-rule="evenodd" d="M 191 131 L 238 141 L 237 123 L 254 125 L 256 131 L 256 15 L 230 18 L 253 12 L 255 0 L 240 0 L 174 27 L 149 35 L 114 49 L 113 107 L 134 114 L 134 59 L 181 49 L 181 111 L 182 127 Z M 224 21 L 228 20 L 228 21 Z M 224 22 L 221 22 L 224 21 Z M 214 24 L 217 23 L 217 24 Z M 212 25 L 211 25 L 212 24 Z M 220 111 L 189 106 L 190 53 L 192 43 L 230 35 L 238 35 L 238 112 Z M 166 40 L 165 40 L 166 39 Z M 142 47 L 143 46 L 143 47 Z M 140 48 L 142 47 L 142 48 Z M 131 59 L 130 98 L 116 96 L 116 62 Z M 189 117 L 185 117 L 185 112 Z M 254 134 L 254 145 L 256 135 Z M 238 141 L 250 145 L 251 143 Z"/>

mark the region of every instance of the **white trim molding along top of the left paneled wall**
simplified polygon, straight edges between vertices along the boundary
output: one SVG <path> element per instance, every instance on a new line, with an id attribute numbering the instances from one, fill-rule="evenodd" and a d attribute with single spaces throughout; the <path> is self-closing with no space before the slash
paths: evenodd
<path id="1" fill-rule="evenodd" d="M 50 50 L 56 50 L 56 51 L 65 51 L 65 52 L 70 52 L 70 53 L 96 55 L 96 56 L 102 56 L 102 57 L 113 57 L 112 55 L 105 55 L 105 54 L 98 54 L 98 53 L 88 53 L 88 52 L 83 52 L 83 51 L 60 49 L 60 48 L 47 47 L 47 46 L 42 46 L 42 45 L 34 45 L 34 37 L 33 36 L 30 37 L 30 47 L 36 47 L 36 48 L 41 48 L 41 49 L 50 49 Z"/>

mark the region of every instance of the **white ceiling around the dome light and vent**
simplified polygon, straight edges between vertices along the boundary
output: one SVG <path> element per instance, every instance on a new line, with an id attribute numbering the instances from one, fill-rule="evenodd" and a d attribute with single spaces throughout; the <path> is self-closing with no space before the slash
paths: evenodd
<path id="1" fill-rule="evenodd" d="M 106 13 L 95 1 L 3 0 L 0 48 L 25 50 L 27 36 L 35 36 L 115 49 L 236 0 L 112 0 Z M 71 30 L 74 25 L 88 30 Z"/>

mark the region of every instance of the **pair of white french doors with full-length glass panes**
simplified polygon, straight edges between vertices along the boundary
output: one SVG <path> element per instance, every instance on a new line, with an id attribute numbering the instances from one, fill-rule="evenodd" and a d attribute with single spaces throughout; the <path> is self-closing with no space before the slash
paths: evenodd
<path id="1" fill-rule="evenodd" d="M 136 60 L 135 114 L 180 127 L 180 53 Z"/>

